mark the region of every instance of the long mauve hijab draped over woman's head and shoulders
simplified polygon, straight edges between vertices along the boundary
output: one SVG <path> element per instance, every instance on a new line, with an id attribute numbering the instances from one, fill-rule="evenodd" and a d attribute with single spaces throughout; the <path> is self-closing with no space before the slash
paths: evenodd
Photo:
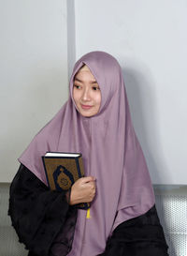
<path id="1" fill-rule="evenodd" d="M 72 96 L 74 76 L 84 64 L 102 96 L 100 110 L 92 117 L 78 112 Z M 65 105 L 36 134 L 19 160 L 47 184 L 41 156 L 47 151 L 82 153 L 85 176 L 96 178 L 96 193 L 91 218 L 86 218 L 85 210 L 78 210 L 68 256 L 95 256 L 104 251 L 108 236 L 122 221 L 151 208 L 154 194 L 117 60 L 104 52 L 83 55 L 75 64 L 69 90 Z"/>

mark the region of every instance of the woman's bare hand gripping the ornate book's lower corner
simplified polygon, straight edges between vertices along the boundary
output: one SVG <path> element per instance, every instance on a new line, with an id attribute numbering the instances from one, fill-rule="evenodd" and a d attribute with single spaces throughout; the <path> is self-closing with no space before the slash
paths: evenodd
<path id="1" fill-rule="evenodd" d="M 90 203 L 94 200 L 95 178 L 93 176 L 79 178 L 71 188 L 70 205 Z"/>

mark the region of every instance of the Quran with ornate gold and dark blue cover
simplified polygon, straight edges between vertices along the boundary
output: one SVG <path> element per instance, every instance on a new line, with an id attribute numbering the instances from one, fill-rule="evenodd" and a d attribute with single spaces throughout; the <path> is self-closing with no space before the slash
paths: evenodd
<path id="1" fill-rule="evenodd" d="M 51 190 L 68 190 L 84 177 L 82 155 L 80 153 L 47 152 L 42 157 L 48 185 Z M 79 203 L 78 208 L 88 209 L 90 203 Z"/>

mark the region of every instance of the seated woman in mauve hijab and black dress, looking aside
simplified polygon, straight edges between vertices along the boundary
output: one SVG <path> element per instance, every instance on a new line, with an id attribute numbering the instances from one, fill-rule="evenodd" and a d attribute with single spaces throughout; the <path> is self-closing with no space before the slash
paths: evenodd
<path id="1" fill-rule="evenodd" d="M 122 69 L 108 53 L 75 64 L 63 108 L 23 152 L 9 215 L 30 256 L 165 256 L 151 179 L 132 125 Z M 85 177 L 50 191 L 41 156 L 82 153 Z M 77 203 L 91 203 L 90 211 Z"/>

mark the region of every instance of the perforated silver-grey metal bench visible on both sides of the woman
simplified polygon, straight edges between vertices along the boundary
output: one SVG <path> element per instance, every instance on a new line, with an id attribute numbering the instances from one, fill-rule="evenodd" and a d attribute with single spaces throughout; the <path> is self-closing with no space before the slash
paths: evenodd
<path id="1" fill-rule="evenodd" d="M 26 256 L 7 216 L 8 188 L 0 184 L 0 256 Z M 187 186 L 154 186 L 154 191 L 169 255 L 187 256 Z"/>

